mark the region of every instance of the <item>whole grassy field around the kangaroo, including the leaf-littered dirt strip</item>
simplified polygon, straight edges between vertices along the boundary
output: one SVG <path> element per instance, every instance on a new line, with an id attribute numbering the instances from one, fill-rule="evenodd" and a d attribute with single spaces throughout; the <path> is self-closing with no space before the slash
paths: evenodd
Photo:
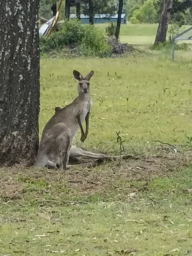
<path id="1" fill-rule="evenodd" d="M 76 97 L 72 70 L 95 70 L 90 132 L 76 145 L 119 154 L 120 131 L 137 158 L 63 173 L 1 168 L 0 256 L 192 255 L 191 57 L 41 60 L 40 134 Z"/>

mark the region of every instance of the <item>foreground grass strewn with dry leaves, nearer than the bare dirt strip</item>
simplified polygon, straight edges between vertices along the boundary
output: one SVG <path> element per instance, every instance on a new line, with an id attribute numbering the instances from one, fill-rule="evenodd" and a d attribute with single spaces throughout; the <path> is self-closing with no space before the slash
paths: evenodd
<path id="1" fill-rule="evenodd" d="M 151 179 L 144 190 L 141 181 L 113 180 L 113 191 L 97 200 L 65 191 L 68 200 L 79 200 L 75 205 L 65 204 L 48 177 L 46 188 L 41 180 L 19 179 L 26 185 L 22 198 L 1 200 L 0 255 L 184 255 L 191 249 L 191 193 L 184 192 L 191 172 Z M 141 190 L 131 194 L 133 188 Z"/>

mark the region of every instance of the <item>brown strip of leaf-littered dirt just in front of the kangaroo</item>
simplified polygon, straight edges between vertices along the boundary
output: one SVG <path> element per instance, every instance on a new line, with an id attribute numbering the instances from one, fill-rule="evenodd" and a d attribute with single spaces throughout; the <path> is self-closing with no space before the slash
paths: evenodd
<path id="1" fill-rule="evenodd" d="M 162 150 L 163 149 L 163 150 Z M 167 152 L 166 152 L 167 151 Z M 68 199 L 67 196 L 82 198 L 102 195 L 111 188 L 127 189 L 129 192 L 147 190 L 147 182 L 154 177 L 166 177 L 172 172 L 191 163 L 192 152 L 173 153 L 166 147 L 161 147 L 161 154 L 141 156 L 140 159 L 106 162 L 95 168 L 78 168 L 67 172 L 55 170 L 35 170 L 34 168 L 1 168 L 0 197 L 3 200 L 22 198 L 26 191 L 38 190 L 39 198 L 54 200 Z M 81 159 L 81 162 L 86 161 Z M 137 182 L 142 182 L 139 188 Z M 141 185 L 141 184 L 140 184 Z M 37 189 L 38 188 L 38 189 Z M 55 193 L 54 193 L 55 192 Z M 47 199 L 47 200 L 49 200 Z"/>

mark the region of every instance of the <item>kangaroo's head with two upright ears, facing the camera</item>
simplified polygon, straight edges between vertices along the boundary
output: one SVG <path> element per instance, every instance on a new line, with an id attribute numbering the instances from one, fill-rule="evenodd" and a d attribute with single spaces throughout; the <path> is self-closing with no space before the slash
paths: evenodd
<path id="1" fill-rule="evenodd" d="M 78 93 L 89 93 L 90 92 L 90 79 L 92 78 L 94 71 L 92 70 L 86 77 L 81 76 L 81 74 L 74 70 L 74 77 L 77 79 L 78 83 Z"/>

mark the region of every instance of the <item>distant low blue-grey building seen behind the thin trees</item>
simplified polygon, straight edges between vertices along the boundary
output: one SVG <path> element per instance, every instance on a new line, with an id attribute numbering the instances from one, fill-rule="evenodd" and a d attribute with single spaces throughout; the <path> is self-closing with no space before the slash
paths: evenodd
<path id="1" fill-rule="evenodd" d="M 81 14 L 81 23 L 82 24 L 89 24 L 90 17 L 88 15 Z M 94 24 L 102 24 L 107 22 L 114 22 L 116 23 L 118 15 L 106 15 L 106 14 L 95 14 L 94 16 Z M 70 14 L 70 19 L 76 19 L 76 14 Z M 122 14 L 122 24 L 127 24 L 127 19 L 125 13 Z"/>

